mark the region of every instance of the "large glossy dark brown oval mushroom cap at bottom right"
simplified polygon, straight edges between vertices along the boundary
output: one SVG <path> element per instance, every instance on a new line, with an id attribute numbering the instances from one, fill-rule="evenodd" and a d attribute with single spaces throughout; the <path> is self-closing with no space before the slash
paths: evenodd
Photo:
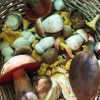
<path id="1" fill-rule="evenodd" d="M 100 67 L 93 53 L 82 51 L 71 63 L 69 80 L 78 100 L 93 100 L 100 87 Z"/>

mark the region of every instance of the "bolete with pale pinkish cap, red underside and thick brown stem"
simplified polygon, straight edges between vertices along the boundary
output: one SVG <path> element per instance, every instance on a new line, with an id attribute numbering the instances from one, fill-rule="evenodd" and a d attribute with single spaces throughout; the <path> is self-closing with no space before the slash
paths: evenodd
<path id="1" fill-rule="evenodd" d="M 1 70 L 0 84 L 14 80 L 16 100 L 27 98 L 30 93 L 34 100 L 38 100 L 34 93 L 30 79 L 25 71 L 37 70 L 39 63 L 28 55 L 18 55 L 9 59 Z M 26 100 L 26 99 L 25 99 Z"/>

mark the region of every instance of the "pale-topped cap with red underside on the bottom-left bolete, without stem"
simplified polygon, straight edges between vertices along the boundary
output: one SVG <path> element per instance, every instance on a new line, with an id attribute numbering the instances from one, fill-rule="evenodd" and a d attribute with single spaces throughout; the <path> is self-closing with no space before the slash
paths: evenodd
<path id="1" fill-rule="evenodd" d="M 13 73 L 19 69 L 25 71 L 37 70 L 40 64 L 29 55 L 18 55 L 9 59 L 1 70 L 0 84 L 5 84 L 13 79 Z"/>

